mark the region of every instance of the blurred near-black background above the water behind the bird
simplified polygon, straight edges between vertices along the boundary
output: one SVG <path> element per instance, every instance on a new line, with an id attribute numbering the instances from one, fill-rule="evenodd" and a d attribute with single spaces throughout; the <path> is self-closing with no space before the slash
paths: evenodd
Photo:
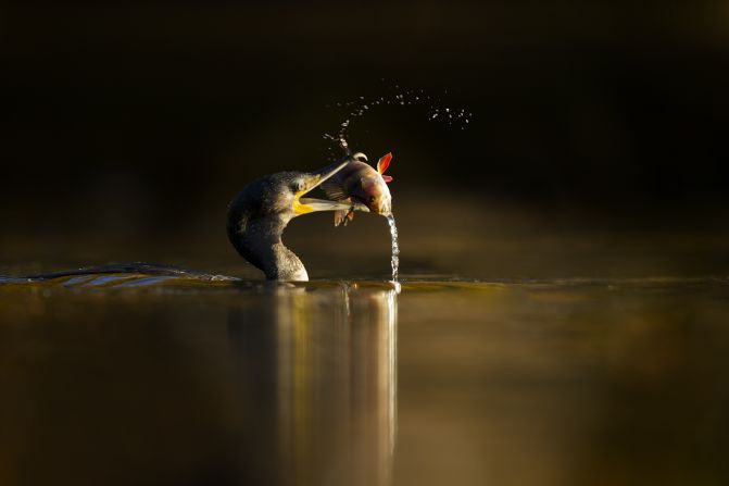
<path id="1" fill-rule="evenodd" d="M 0 33 L 5 265 L 194 246 L 238 264 L 236 191 L 325 165 L 337 102 L 403 88 L 473 113 L 462 130 L 386 105 L 351 126 L 370 160 L 394 153 L 405 228 L 432 209 L 462 234 L 726 233 L 726 2 L 14 2 Z"/>

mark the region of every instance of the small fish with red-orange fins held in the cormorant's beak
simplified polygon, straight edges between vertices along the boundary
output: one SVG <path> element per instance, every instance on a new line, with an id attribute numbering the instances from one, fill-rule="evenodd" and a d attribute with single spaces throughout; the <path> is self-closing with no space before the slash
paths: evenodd
<path id="1" fill-rule="evenodd" d="M 392 214 L 392 196 L 387 183 L 392 177 L 385 175 L 390 165 L 392 152 L 380 157 L 377 170 L 367 163 L 367 155 L 362 152 L 349 155 L 350 162 L 334 176 L 322 184 L 322 189 L 334 201 L 344 203 L 362 203 L 370 212 L 381 215 Z M 354 208 L 335 211 L 335 226 L 347 224 L 354 219 Z"/>

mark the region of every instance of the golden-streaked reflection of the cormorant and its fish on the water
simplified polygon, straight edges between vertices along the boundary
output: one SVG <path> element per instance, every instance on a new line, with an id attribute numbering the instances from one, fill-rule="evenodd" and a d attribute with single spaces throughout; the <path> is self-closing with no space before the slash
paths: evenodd
<path id="1" fill-rule="evenodd" d="M 338 285 L 279 286 L 269 296 L 275 306 L 264 307 L 273 312 L 229 315 L 248 415 L 256 421 L 246 441 L 260 441 L 244 449 L 250 479 L 390 483 L 397 290 Z"/>

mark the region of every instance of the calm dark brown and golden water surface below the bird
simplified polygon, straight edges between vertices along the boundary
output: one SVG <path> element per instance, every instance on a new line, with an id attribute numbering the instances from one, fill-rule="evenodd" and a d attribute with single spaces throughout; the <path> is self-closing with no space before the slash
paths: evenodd
<path id="1" fill-rule="evenodd" d="M 0 484 L 726 484 L 727 284 L 5 281 Z"/>

